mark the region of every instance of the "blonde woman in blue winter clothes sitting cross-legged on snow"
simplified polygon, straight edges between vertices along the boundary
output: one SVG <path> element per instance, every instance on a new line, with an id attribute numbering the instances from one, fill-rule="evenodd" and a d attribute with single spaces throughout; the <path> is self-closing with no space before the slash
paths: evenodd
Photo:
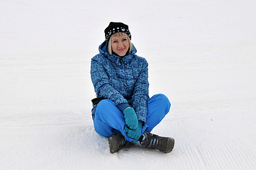
<path id="1" fill-rule="evenodd" d="M 151 134 L 169 112 L 163 94 L 149 98 L 148 62 L 135 55 L 131 35 L 124 23 L 109 23 L 99 55 L 91 59 L 91 81 L 97 98 L 91 110 L 94 129 L 108 137 L 111 153 L 128 145 L 141 145 L 171 152 L 174 140 Z"/>

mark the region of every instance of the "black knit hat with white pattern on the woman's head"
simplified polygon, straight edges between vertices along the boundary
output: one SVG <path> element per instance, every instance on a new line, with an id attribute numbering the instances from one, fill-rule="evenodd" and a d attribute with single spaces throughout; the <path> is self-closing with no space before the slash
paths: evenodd
<path id="1" fill-rule="evenodd" d="M 106 38 L 106 42 L 108 43 L 111 35 L 113 35 L 114 33 L 118 33 L 118 32 L 123 32 L 126 33 L 128 35 L 128 37 L 131 39 L 131 35 L 130 35 L 130 31 L 128 29 L 128 26 L 124 23 L 109 23 L 108 27 L 105 29 L 105 38 Z"/>

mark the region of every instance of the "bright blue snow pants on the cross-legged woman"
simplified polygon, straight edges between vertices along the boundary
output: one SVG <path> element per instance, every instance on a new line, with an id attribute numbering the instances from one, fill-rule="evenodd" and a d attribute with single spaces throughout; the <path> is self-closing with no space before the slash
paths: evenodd
<path id="1" fill-rule="evenodd" d="M 145 131 L 151 132 L 151 130 L 165 118 L 170 107 L 171 103 L 164 94 L 156 94 L 148 99 L 148 114 L 141 135 Z M 99 102 L 94 119 L 94 129 L 99 135 L 110 137 L 113 134 L 121 132 L 123 136 L 126 137 L 126 140 L 132 142 L 133 139 L 123 132 L 125 126 L 126 122 L 123 117 L 123 112 L 116 107 L 113 101 L 104 99 Z"/>

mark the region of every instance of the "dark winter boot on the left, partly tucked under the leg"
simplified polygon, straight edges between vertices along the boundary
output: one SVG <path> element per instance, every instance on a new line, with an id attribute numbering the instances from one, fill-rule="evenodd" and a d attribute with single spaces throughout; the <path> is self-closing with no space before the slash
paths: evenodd
<path id="1" fill-rule="evenodd" d="M 111 154 L 113 154 L 123 147 L 129 147 L 130 142 L 121 133 L 118 133 L 108 137 L 108 146 Z"/>

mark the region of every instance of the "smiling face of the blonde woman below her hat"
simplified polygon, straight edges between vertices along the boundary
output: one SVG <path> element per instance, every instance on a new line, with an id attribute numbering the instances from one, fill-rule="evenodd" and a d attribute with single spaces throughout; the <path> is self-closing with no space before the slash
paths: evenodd
<path id="1" fill-rule="evenodd" d="M 110 41 L 113 52 L 121 57 L 126 55 L 126 52 L 130 47 L 130 42 L 126 34 L 121 33 L 120 36 L 113 34 Z"/>

